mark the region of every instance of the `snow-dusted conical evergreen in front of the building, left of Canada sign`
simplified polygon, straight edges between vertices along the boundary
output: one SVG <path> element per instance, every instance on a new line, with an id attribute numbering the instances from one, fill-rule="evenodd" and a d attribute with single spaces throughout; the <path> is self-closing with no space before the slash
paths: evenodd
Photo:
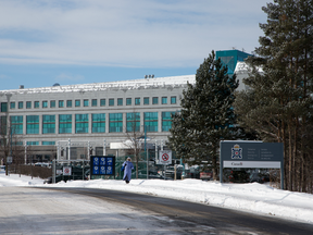
<path id="1" fill-rule="evenodd" d="M 228 76 L 227 67 L 215 53 L 204 59 L 197 70 L 196 84 L 183 91 L 181 112 L 173 116 L 168 144 L 189 165 L 208 161 L 217 178 L 217 159 L 222 139 L 237 139 L 233 102 L 238 87 L 236 75 Z"/>

